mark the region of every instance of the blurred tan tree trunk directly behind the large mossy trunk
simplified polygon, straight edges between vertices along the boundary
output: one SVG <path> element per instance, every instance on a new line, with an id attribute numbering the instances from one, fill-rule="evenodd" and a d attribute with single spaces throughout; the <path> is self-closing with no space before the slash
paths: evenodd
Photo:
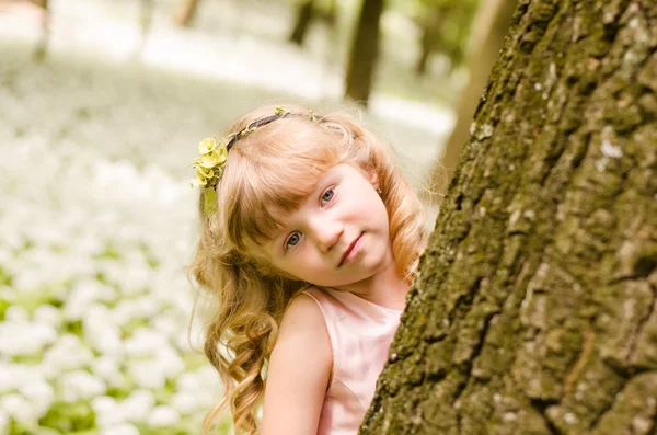
<path id="1" fill-rule="evenodd" d="M 428 196 L 433 202 L 438 202 L 440 195 L 445 194 L 447 183 L 441 180 L 450 180 L 459 163 L 461 150 L 470 136 L 470 124 L 479 102 L 484 92 L 486 81 L 491 75 L 493 64 L 499 54 L 502 42 L 507 35 L 511 15 L 516 9 L 517 0 L 487 0 L 482 2 L 474 25 L 473 53 L 471 53 L 468 70 L 470 80 L 461 94 L 457 108 L 457 123 L 445 145 L 445 154 L 441 161 L 431 171 Z"/>

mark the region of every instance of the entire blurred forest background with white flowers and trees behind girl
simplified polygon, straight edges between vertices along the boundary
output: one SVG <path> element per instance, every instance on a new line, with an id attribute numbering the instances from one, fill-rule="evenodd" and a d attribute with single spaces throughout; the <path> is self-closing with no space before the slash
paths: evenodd
<path id="1" fill-rule="evenodd" d="M 433 228 L 514 7 L 0 0 L 0 434 L 199 433 L 198 140 L 262 104 L 359 107 Z"/>

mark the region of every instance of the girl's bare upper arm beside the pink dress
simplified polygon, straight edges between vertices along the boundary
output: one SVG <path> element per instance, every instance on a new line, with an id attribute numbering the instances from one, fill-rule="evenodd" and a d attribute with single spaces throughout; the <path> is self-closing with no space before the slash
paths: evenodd
<path id="1" fill-rule="evenodd" d="M 262 435 L 315 435 L 332 366 L 320 307 L 301 294 L 287 308 L 269 357 Z"/>

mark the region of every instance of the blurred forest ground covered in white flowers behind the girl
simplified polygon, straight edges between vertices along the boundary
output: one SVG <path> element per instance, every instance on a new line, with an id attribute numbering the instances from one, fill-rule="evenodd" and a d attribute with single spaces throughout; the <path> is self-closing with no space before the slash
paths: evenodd
<path id="1" fill-rule="evenodd" d="M 34 38 L 0 35 L 0 434 L 198 434 L 221 385 L 188 328 L 189 163 L 238 114 L 300 95 L 68 49 L 69 30 L 42 64 Z M 419 180 L 449 115 L 379 107 Z"/>

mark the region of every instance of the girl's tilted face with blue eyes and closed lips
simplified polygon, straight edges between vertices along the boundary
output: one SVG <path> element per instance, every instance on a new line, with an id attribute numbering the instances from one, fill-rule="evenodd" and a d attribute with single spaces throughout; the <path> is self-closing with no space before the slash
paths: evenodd
<path id="1" fill-rule="evenodd" d="M 273 239 L 258 248 L 278 270 L 323 286 L 346 286 L 392 265 L 388 211 L 366 178 L 348 164 L 330 169 Z"/>

